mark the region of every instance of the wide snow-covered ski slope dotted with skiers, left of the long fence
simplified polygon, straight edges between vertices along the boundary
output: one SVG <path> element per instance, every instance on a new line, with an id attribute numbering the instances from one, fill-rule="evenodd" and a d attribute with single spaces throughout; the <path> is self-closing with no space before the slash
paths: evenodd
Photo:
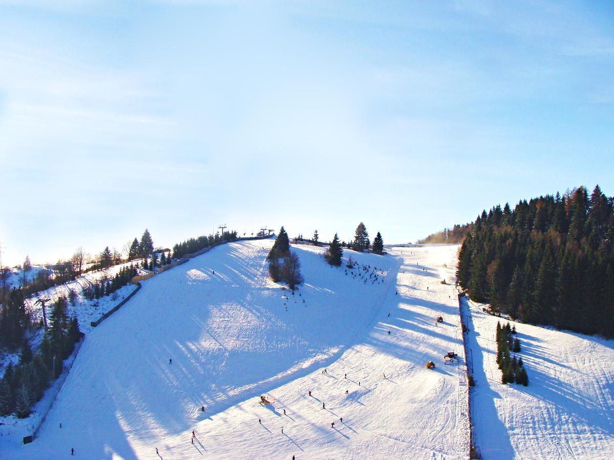
<path id="1" fill-rule="evenodd" d="M 464 359 L 443 365 L 462 358 L 456 291 L 440 284 L 457 247 L 346 251 L 370 266 L 346 275 L 294 246 L 292 296 L 267 276 L 271 244 L 222 245 L 144 282 L 88 334 L 39 437 L 2 456 L 464 458 Z"/>

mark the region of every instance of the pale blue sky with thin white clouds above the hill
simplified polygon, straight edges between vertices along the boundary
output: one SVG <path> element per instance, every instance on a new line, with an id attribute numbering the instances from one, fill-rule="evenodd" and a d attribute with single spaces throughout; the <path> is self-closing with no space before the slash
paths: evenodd
<path id="1" fill-rule="evenodd" d="M 612 2 L 0 0 L 3 262 L 614 195 Z"/>

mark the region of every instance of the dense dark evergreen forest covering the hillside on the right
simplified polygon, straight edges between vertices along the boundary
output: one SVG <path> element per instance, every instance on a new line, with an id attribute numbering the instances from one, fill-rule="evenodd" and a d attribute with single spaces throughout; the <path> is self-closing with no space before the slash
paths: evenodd
<path id="1" fill-rule="evenodd" d="M 614 337 L 614 199 L 580 187 L 484 211 L 457 276 L 472 299 L 512 318 Z"/>

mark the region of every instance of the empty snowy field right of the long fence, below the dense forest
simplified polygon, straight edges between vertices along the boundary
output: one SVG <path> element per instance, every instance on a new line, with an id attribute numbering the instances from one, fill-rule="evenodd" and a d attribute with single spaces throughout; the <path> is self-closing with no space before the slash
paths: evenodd
<path id="1" fill-rule="evenodd" d="M 510 321 L 529 386 L 502 385 L 495 328 L 507 321 L 482 312 L 484 305 L 464 302 L 470 308 L 472 417 L 482 458 L 614 458 L 614 341 Z"/>

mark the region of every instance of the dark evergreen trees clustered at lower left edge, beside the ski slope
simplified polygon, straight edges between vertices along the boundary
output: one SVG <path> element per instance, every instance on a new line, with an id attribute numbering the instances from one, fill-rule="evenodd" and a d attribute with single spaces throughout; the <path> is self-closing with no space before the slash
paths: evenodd
<path id="1" fill-rule="evenodd" d="M 25 311 L 23 293 L 12 294 L 13 302 L 18 302 L 19 298 L 21 310 Z M 75 343 L 83 335 L 77 319 L 66 315 L 66 297 L 60 297 L 53 304 L 50 323 L 36 355 L 22 335 L 19 363 L 9 364 L 0 380 L 0 415 L 15 413 L 20 418 L 27 417 L 45 389 L 59 377 L 64 359 L 71 355 Z"/>

